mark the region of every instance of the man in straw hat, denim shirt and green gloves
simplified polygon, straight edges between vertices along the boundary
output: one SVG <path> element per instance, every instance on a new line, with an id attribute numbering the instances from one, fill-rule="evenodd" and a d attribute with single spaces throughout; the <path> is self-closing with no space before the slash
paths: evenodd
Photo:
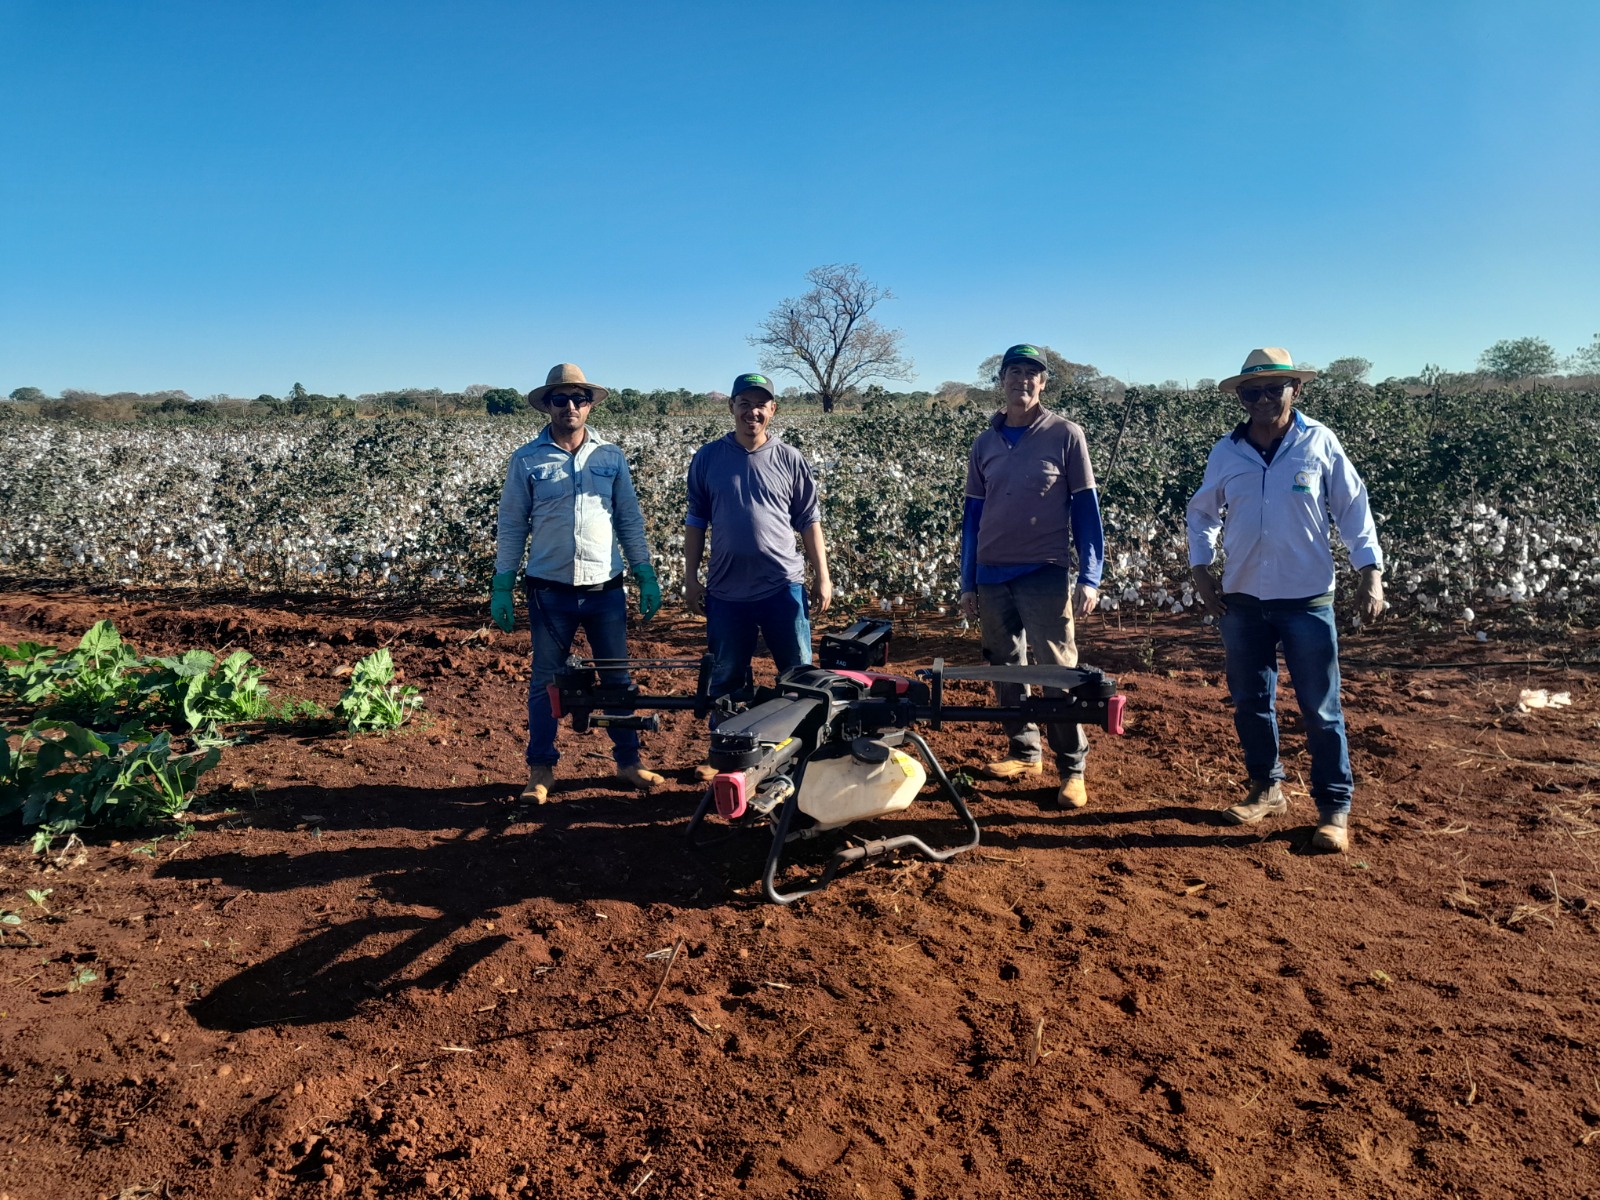
<path id="1" fill-rule="evenodd" d="M 606 389 L 584 379 L 573 363 L 550 368 L 528 405 L 549 418 L 544 430 L 510 456 L 501 491 L 490 613 L 507 634 L 515 616 L 512 589 L 528 555 L 523 589 L 533 629 L 528 677 L 528 786 L 523 800 L 544 803 L 555 786 L 555 717 L 546 686 L 582 629 L 597 659 L 627 658 L 627 594 L 622 560 L 638 586 L 638 614 L 661 608 L 661 584 L 650 565 L 645 517 L 621 446 L 587 427 L 589 410 Z M 531 539 L 531 546 L 530 546 Z M 627 683 L 626 670 L 606 672 Z M 662 782 L 638 762 L 638 733 L 608 730 L 616 774 L 627 787 Z"/>

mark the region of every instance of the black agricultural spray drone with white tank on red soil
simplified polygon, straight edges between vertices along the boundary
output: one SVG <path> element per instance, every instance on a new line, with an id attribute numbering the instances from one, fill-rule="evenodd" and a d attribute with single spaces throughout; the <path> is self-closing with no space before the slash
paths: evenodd
<path id="1" fill-rule="evenodd" d="M 715 810 L 734 827 L 768 826 L 773 835 L 762 875 L 766 899 L 792 904 L 826 888 L 851 862 L 902 850 L 944 862 L 978 845 L 978 822 L 960 789 L 950 782 L 928 742 L 912 728 L 946 722 L 1010 722 L 1099 725 L 1122 733 L 1123 698 L 1117 682 L 1093 667 L 946 667 L 934 659 L 915 678 L 886 675 L 890 622 L 858 621 L 822 637 L 821 666 L 792 667 L 778 685 L 746 688 L 712 701 L 710 656 L 701 659 L 571 658 L 550 683 L 550 706 L 571 717 L 574 730 L 656 730 L 654 715 L 635 709 L 686 709 L 715 715 L 710 765 L 717 776 L 690 819 L 688 837 L 704 846 L 701 827 Z M 646 696 L 635 683 L 614 682 L 622 669 L 698 670 L 694 696 Z M 608 682 L 611 677 L 611 682 Z M 1051 694 L 1024 694 L 1010 707 L 946 704 L 944 685 L 955 680 L 1030 683 Z M 917 757 L 902 747 L 912 747 Z M 920 762 L 918 762 L 920 758 Z M 930 846 L 915 834 L 851 838 L 837 850 L 808 886 L 778 890 L 784 850 L 854 821 L 909 808 L 933 774 L 965 827 L 965 842 Z"/>

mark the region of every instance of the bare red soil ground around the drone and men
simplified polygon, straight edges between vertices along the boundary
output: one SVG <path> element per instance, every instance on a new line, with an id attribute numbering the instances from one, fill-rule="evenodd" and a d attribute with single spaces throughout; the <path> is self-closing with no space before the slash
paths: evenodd
<path id="1" fill-rule="evenodd" d="M 429 718 L 262 731 L 187 837 L 0 846 L 10 1200 L 1600 1195 L 1582 637 L 1349 637 L 1357 816 L 1328 856 L 1293 710 L 1291 816 L 1219 826 L 1242 789 L 1214 634 L 1096 619 L 1130 728 L 1091 734 L 1086 810 L 1048 774 L 984 784 L 976 851 L 782 909 L 760 835 L 685 845 L 688 715 L 648 736 L 648 798 L 563 731 L 557 802 L 507 803 L 526 635 L 477 610 L 0 594 L 0 642 L 98 618 L 142 653 L 243 646 L 325 704 L 387 645 Z M 634 645 L 699 638 L 658 619 Z M 896 667 L 934 654 L 976 643 L 898 634 Z M 1523 688 L 1573 702 L 1518 712 Z M 931 742 L 954 770 L 1000 738 Z M 941 808 L 878 826 L 947 835 Z M 648 955 L 678 939 L 662 987 Z"/>

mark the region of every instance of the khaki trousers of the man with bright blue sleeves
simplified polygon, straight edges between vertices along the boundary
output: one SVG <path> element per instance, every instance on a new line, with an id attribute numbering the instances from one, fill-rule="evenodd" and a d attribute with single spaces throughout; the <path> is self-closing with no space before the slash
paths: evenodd
<path id="1" fill-rule="evenodd" d="M 984 662 L 995 667 L 1027 662 L 1078 666 L 1078 643 L 1072 624 L 1072 574 L 1066 566 L 1040 566 L 1003 584 L 978 584 L 978 629 Z M 1011 709 L 1022 702 L 1027 686 L 995 683 L 995 704 Z M 1043 688 L 1061 696 L 1059 688 Z M 1038 726 L 1005 722 L 1006 758 L 1037 763 L 1043 757 Z M 1090 752 L 1090 736 L 1072 722 L 1046 725 L 1045 738 L 1056 755 L 1062 779 L 1082 778 Z"/>

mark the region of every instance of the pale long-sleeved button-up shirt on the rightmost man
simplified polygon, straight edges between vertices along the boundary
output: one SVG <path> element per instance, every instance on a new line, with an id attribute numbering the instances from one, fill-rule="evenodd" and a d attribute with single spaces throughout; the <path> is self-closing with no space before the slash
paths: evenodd
<path id="1" fill-rule="evenodd" d="M 1221 534 L 1224 592 L 1258 600 L 1323 595 L 1333 590 L 1333 526 L 1354 568 L 1382 570 L 1366 485 L 1333 430 L 1296 411 L 1270 464 L 1234 434 L 1211 446 L 1189 501 L 1189 565 L 1216 562 Z"/>

